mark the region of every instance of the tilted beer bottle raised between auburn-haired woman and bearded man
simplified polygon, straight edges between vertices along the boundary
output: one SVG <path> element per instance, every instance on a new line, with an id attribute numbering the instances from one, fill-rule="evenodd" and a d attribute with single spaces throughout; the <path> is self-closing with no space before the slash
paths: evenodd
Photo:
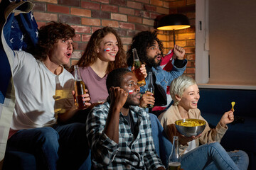
<path id="1" fill-rule="evenodd" d="M 132 54 L 134 58 L 133 73 L 135 77 L 138 79 L 138 86 L 145 86 L 146 85 L 145 77 L 144 77 L 144 74 L 142 74 L 142 72 L 140 71 L 140 67 L 142 67 L 142 62 L 139 61 L 136 48 L 132 49 Z"/>

